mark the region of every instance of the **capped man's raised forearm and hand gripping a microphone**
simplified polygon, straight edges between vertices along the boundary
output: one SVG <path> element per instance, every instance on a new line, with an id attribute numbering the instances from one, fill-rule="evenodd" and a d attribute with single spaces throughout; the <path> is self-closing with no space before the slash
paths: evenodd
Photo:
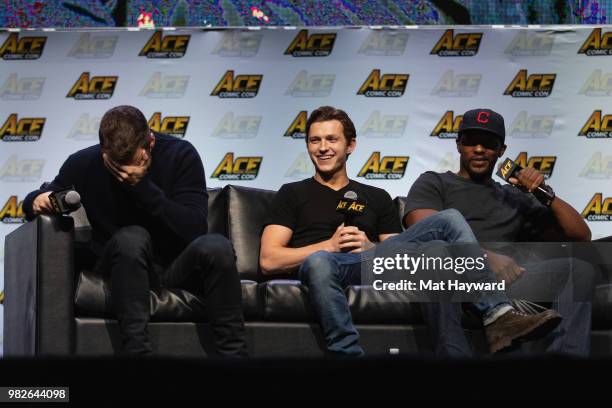
<path id="1" fill-rule="evenodd" d="M 544 182 L 544 176 L 536 169 L 527 167 L 522 169 L 516 178 L 511 178 L 509 181 L 531 192 Z M 567 239 L 571 241 L 591 240 L 591 229 L 571 205 L 555 196 L 550 210 Z"/>

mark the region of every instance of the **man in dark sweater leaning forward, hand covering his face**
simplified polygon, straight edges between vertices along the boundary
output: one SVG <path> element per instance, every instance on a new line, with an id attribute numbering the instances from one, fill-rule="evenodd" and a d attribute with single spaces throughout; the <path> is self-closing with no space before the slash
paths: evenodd
<path id="1" fill-rule="evenodd" d="M 121 352 L 152 353 L 149 289 L 202 296 L 221 356 L 245 356 L 241 289 L 231 243 L 207 234 L 202 161 L 187 141 L 154 133 L 142 112 L 118 106 L 100 144 L 68 157 L 52 183 L 24 200 L 28 219 L 51 213 L 50 191 L 74 186 L 92 227 L 96 272 L 110 275 Z"/>

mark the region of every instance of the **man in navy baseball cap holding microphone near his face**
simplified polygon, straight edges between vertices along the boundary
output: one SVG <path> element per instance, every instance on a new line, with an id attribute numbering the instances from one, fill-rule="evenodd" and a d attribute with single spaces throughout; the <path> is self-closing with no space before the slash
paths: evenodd
<path id="1" fill-rule="evenodd" d="M 538 344 L 540 349 L 588 355 L 591 327 L 591 304 L 588 300 L 596 276 L 593 267 L 573 258 L 554 258 L 519 265 L 511 257 L 517 255 L 514 246 L 502 245 L 502 249 L 499 249 L 499 244 L 492 245 L 518 242 L 527 228 L 531 231 L 552 230 L 557 240 L 591 239 L 591 231 L 580 214 L 555 196 L 552 188 L 544 183 L 544 176 L 536 169 L 521 169 L 509 178 L 511 184 L 502 186 L 493 180 L 495 164 L 506 151 L 505 137 L 504 118 L 499 113 L 490 109 L 465 112 L 457 137 L 459 171 L 427 171 L 421 174 L 408 193 L 403 224 L 409 227 L 438 211 L 449 208 L 458 210 L 485 248 L 491 270 L 498 279 L 506 281 L 509 294 L 518 297 L 530 292 L 534 297 L 539 297 L 538 301 L 552 303 L 552 309 L 563 316 L 555 330 L 544 333 L 545 337 Z M 533 194 L 538 188 L 547 194 Z M 492 247 L 495 247 L 495 251 L 490 249 Z M 497 324 L 492 325 L 491 312 L 487 315 L 487 311 L 494 305 L 475 303 L 473 306 L 483 315 L 489 341 L 497 336 L 495 326 L 519 313 L 505 305 L 503 313 L 498 310 L 493 314 Z M 472 354 L 461 326 L 461 304 L 428 303 L 422 304 L 422 310 L 439 354 Z M 525 339 L 524 336 L 512 338 L 511 346 Z"/>

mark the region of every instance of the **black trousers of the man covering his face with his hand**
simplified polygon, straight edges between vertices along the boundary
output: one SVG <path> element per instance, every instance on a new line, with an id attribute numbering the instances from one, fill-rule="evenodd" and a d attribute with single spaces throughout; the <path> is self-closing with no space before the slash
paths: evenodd
<path id="1" fill-rule="evenodd" d="M 217 353 L 246 356 L 240 279 L 232 244 L 222 235 L 195 239 L 164 268 L 155 261 L 149 232 L 140 226 L 124 227 L 107 242 L 96 269 L 110 274 L 123 353 L 151 353 L 149 290 L 161 285 L 202 296 Z"/>

